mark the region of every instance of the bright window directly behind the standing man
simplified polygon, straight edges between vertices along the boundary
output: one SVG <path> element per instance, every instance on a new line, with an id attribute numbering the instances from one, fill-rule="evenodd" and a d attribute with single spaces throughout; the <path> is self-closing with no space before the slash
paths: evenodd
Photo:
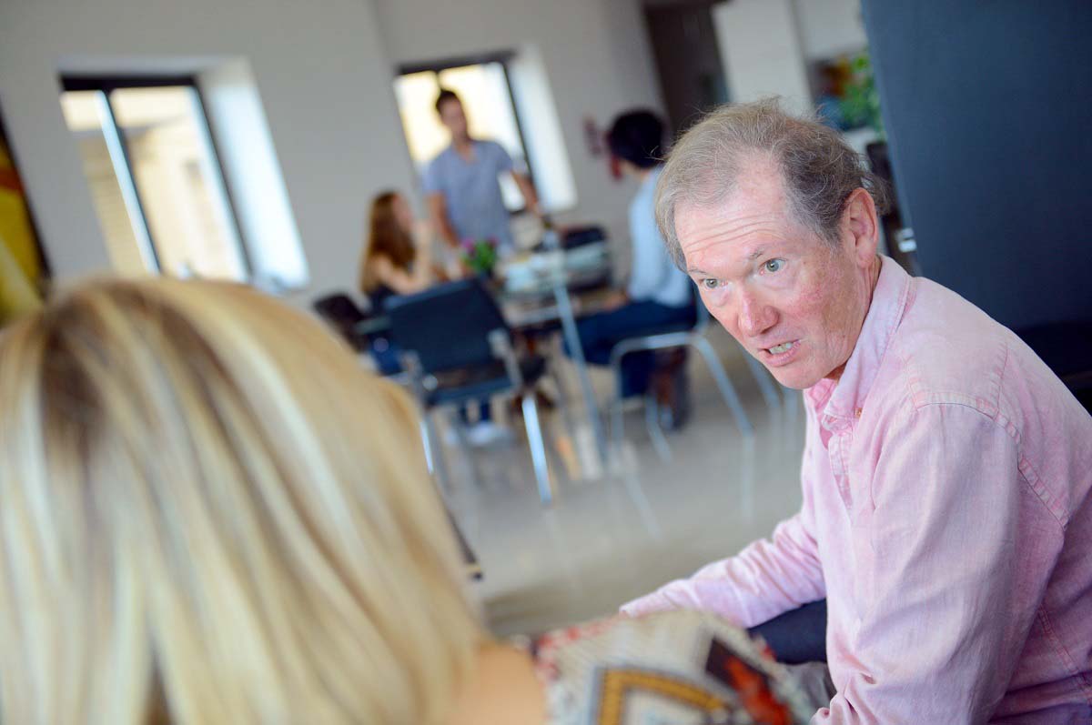
<path id="1" fill-rule="evenodd" d="M 531 175 L 520 118 L 512 100 L 508 55 L 443 61 L 406 67 L 394 80 L 394 94 L 410 156 L 418 173 L 450 143 L 447 129 L 436 114 L 440 88 L 454 91 L 463 102 L 471 135 L 496 141 L 508 151 L 517 170 Z M 523 197 L 511 176 L 500 176 L 505 204 L 511 212 L 523 209 Z"/>

